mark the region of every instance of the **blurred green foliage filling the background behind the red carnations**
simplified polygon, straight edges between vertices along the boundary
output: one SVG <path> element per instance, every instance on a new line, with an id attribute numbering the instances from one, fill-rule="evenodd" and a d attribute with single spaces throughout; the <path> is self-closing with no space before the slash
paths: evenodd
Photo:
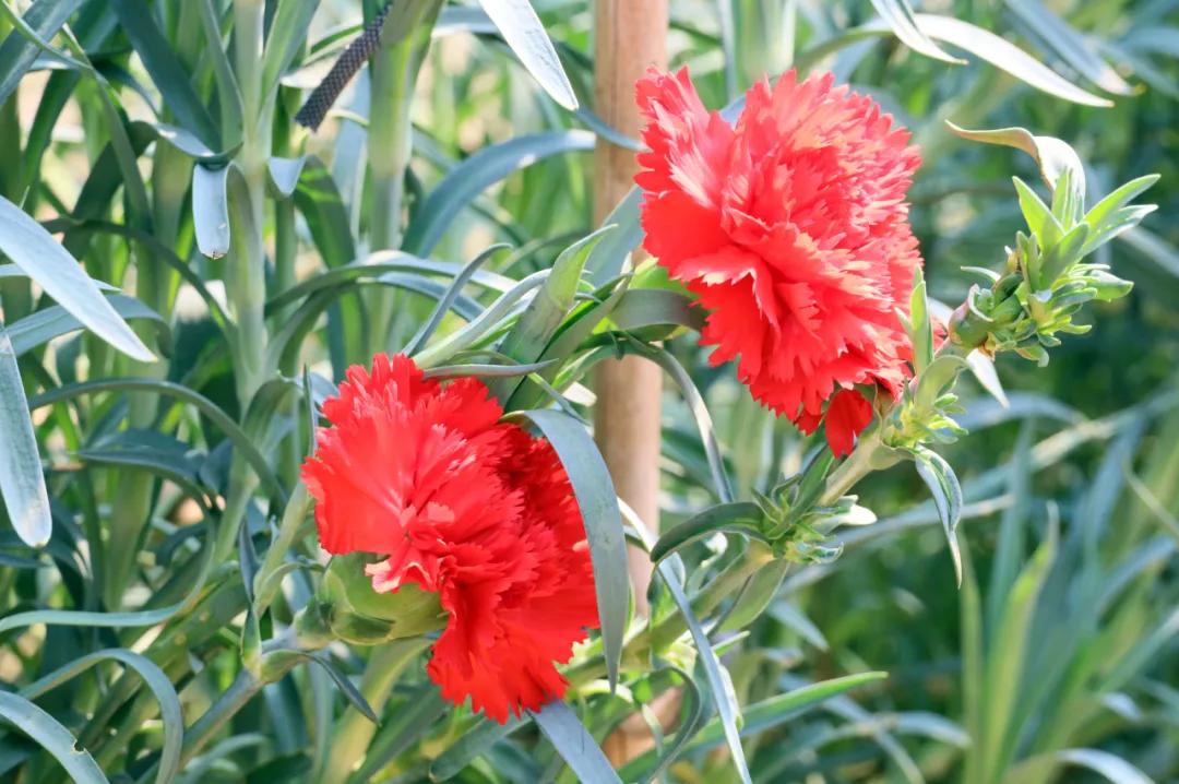
<path id="1" fill-rule="evenodd" d="M 514 250 L 467 289 L 467 317 L 507 278 L 548 269 L 594 229 L 590 151 L 595 134 L 618 138 L 588 110 L 585 0 L 533 4 L 577 112 L 538 87 L 476 6 L 447 5 L 430 25 L 437 9 L 422 4 L 404 39 L 304 136 L 291 118 L 362 11 L 375 12 L 363 5 L 5 0 L 0 195 L 119 286 L 108 302 L 164 357 L 137 362 L 75 331 L 40 278 L 0 265 L 53 519 L 40 549 L 0 531 L 0 716 L 15 726 L 0 737 L 6 780 L 64 780 L 45 749 L 68 749 L 71 736 L 111 780 L 571 776 L 528 723 L 508 734 L 444 711 L 408 666 L 420 652 L 409 644 L 332 648 L 317 658 L 324 666 L 230 692 L 232 714 L 209 710 L 314 585 L 314 536 L 282 521 L 282 501 L 298 492 L 308 398 L 347 364 L 406 345 L 429 297 L 489 244 Z M 900 4 L 671 6 L 673 64 L 691 68 L 709 105 L 791 65 L 830 68 L 913 130 L 924 159 L 914 222 L 942 302 L 964 296 L 961 266 L 1001 263 L 1021 225 L 1010 176 L 1035 178 L 1030 160 L 963 141 L 944 120 L 1060 137 L 1086 162 L 1092 192 L 1162 176 L 1148 193 L 1158 213 L 1102 250 L 1135 281 L 1133 295 L 1088 311 L 1098 329 L 1067 340 L 1047 368 L 1000 362 L 1008 407 L 981 389 L 967 396 L 971 434 L 943 452 L 968 501 L 963 587 L 923 486 L 893 469 L 857 488 L 881 521 L 844 535 L 839 559 L 792 571 L 747 637 L 718 645 L 753 779 L 1175 780 L 1179 2 L 923 4 L 1019 46 L 1080 94 L 1036 90 L 1034 70 L 975 33 L 923 25 L 967 64 L 913 51 L 880 18 Z M 235 47 L 263 35 L 265 58 L 245 72 L 251 53 Z M 1085 105 L 1105 98 L 1113 105 Z M 272 156 L 301 163 L 268 165 Z M 6 255 L 40 250 L 9 218 Z M 349 266 L 383 249 L 443 264 Z M 798 468 L 809 444 L 758 409 L 731 369 L 710 369 L 694 335 L 668 349 L 709 402 L 739 495 Z M 6 415 L 19 389 L 0 386 Z M 696 428 L 670 390 L 665 525 L 716 500 Z M 687 559 L 700 580 L 724 555 L 716 543 Z M 275 579 L 255 579 L 259 569 Z M 821 703 L 775 701 L 876 670 L 889 678 Z M 631 679 L 628 701 L 575 704 L 600 738 L 685 680 L 665 668 Z M 711 714 L 706 690 L 687 693 L 685 717 Z M 369 707 L 378 726 L 362 716 Z M 735 779 L 716 719 L 684 740 L 663 775 Z M 623 777 L 650 775 L 656 757 Z"/>

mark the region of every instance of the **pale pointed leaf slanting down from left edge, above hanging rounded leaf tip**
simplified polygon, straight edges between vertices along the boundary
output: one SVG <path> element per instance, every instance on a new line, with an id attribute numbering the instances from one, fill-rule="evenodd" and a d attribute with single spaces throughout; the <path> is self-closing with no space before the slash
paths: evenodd
<path id="1" fill-rule="evenodd" d="M 154 356 L 50 232 L 0 197 L 0 250 L 95 335 L 140 362 Z"/>

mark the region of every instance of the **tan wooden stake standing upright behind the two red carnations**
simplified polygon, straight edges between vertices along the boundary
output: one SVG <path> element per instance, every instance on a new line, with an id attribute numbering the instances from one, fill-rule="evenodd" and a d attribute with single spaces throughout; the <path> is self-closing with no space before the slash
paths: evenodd
<path id="1" fill-rule="evenodd" d="M 637 137 L 634 83 L 651 65 L 667 64 L 667 0 L 595 0 L 594 99 L 598 114 Z M 599 220 L 634 185 L 634 152 L 599 138 L 594 151 L 594 213 Z M 599 365 L 594 431 L 618 495 L 648 526 L 659 521 L 659 394 L 663 370 L 628 356 Z M 651 561 L 630 552 L 635 610 L 647 611 Z"/>

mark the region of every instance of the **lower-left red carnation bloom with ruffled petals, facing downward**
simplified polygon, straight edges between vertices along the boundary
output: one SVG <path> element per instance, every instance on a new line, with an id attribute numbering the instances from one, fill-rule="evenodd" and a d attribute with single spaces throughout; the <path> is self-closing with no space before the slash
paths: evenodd
<path id="1" fill-rule="evenodd" d="M 442 386 L 406 356 L 351 368 L 303 479 L 330 553 L 387 555 L 377 592 L 416 584 L 448 613 L 428 666 L 498 722 L 565 693 L 554 663 L 598 626 L 581 515 L 552 446 L 475 378 Z"/>

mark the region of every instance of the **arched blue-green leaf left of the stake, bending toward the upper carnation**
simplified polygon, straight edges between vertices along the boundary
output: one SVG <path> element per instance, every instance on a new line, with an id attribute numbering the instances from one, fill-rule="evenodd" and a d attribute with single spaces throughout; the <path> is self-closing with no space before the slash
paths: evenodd
<path id="1" fill-rule="evenodd" d="M 406 230 L 402 249 L 429 255 L 450 222 L 488 186 L 551 156 L 593 150 L 594 141 L 588 131 L 547 131 L 483 147 L 447 172 L 430 191 Z"/>

